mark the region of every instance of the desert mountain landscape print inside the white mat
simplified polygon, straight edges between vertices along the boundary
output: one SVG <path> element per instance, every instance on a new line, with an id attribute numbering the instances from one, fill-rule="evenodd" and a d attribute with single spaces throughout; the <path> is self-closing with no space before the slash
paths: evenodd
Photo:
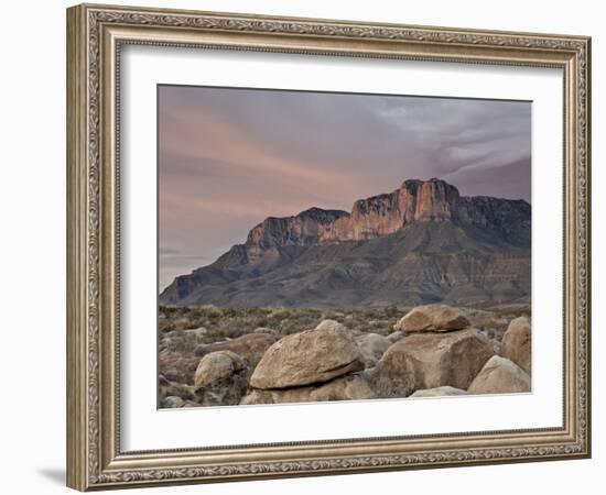
<path id="1" fill-rule="evenodd" d="M 156 103 L 160 409 L 532 392 L 532 101 Z"/>

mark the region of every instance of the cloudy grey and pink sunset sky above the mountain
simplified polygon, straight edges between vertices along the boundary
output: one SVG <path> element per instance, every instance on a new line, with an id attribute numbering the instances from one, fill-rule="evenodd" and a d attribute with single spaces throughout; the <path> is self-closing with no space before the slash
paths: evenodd
<path id="1" fill-rule="evenodd" d="M 528 101 L 159 86 L 159 288 L 267 217 L 409 178 L 530 202 Z"/>

